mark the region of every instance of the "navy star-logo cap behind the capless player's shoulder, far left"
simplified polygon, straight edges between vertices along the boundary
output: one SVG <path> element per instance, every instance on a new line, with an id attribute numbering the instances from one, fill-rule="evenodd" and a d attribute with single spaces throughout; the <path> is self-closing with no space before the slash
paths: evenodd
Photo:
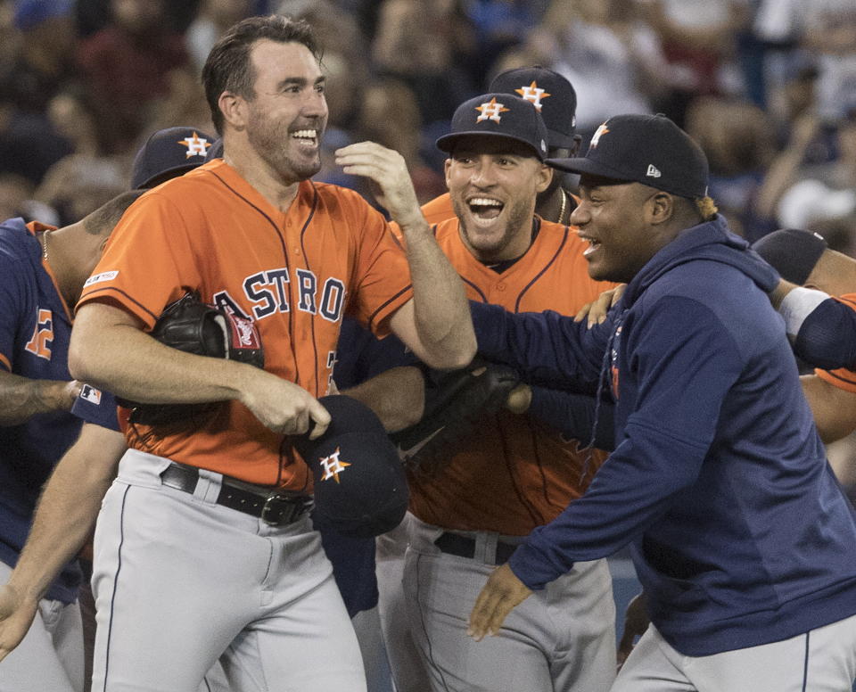
<path id="1" fill-rule="evenodd" d="M 154 187 L 205 162 L 214 137 L 199 128 L 166 128 L 152 134 L 136 152 L 131 187 Z"/>

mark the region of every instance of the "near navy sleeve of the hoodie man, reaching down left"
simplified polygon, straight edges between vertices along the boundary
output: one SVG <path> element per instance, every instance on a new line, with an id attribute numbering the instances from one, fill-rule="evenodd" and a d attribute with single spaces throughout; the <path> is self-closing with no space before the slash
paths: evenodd
<path id="1" fill-rule="evenodd" d="M 512 570 L 531 589 L 575 562 L 613 554 L 663 516 L 695 482 L 740 373 L 737 346 L 697 301 L 663 298 L 627 333 L 621 362 L 633 369 L 635 405 L 585 496 L 512 556 Z"/>

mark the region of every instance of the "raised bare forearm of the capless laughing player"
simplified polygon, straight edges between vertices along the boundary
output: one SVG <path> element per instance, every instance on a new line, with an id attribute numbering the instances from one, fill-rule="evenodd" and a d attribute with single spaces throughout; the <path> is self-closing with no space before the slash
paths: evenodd
<path id="1" fill-rule="evenodd" d="M 407 261 L 413 281 L 416 332 L 431 367 L 465 367 L 475 355 L 475 334 L 464 284 L 440 250 L 424 218 L 402 230 L 407 242 Z"/>

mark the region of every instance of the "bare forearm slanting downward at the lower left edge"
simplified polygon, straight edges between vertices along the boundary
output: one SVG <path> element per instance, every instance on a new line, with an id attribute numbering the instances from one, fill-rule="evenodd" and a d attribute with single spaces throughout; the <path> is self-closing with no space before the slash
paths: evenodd
<path id="1" fill-rule="evenodd" d="M 121 433 L 84 424 L 78 441 L 45 484 L 27 544 L 10 577 L 10 586 L 21 597 L 40 599 L 86 543 L 124 451 Z"/>

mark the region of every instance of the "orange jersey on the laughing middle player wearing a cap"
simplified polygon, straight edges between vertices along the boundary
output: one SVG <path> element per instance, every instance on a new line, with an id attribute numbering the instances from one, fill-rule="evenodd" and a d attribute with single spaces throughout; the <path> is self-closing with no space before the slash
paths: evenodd
<path id="1" fill-rule="evenodd" d="M 538 222 L 535 242 L 501 274 L 466 249 L 457 218 L 434 231 L 473 301 L 512 312 L 553 309 L 574 315 L 614 284 L 588 276 L 582 256 L 588 245 L 572 227 Z M 438 474 L 411 475 L 410 509 L 424 522 L 447 529 L 526 535 L 579 498 L 606 457 L 592 452 L 585 469 L 588 452 L 580 452 L 580 446 L 530 416 L 503 411 L 485 420 L 478 438 L 467 441 Z"/>

